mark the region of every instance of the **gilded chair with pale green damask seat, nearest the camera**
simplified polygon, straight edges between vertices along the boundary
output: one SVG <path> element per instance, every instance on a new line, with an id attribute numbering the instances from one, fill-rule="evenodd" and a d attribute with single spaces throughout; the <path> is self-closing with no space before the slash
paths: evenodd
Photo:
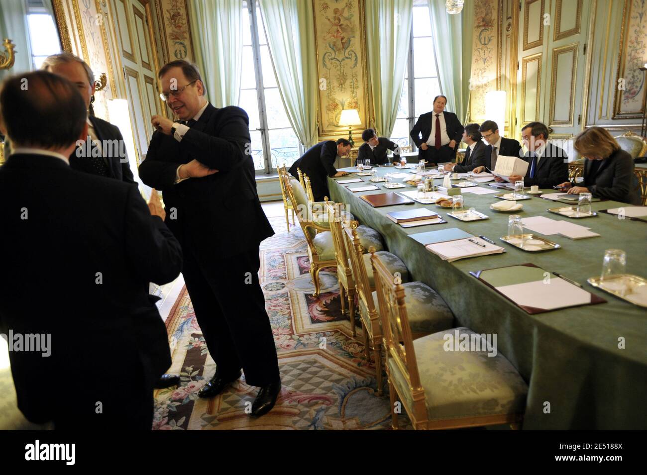
<path id="1" fill-rule="evenodd" d="M 520 427 L 528 385 L 514 366 L 492 351 L 492 346 L 487 348 L 485 335 L 469 328 L 415 339 L 411 308 L 406 302 L 410 290 L 389 272 L 377 254 L 371 255 L 371 262 L 384 330 L 391 427 L 398 428 L 396 396 L 415 429 L 496 424 Z M 465 340 L 475 346 L 459 351 L 459 341 L 462 347 Z"/>

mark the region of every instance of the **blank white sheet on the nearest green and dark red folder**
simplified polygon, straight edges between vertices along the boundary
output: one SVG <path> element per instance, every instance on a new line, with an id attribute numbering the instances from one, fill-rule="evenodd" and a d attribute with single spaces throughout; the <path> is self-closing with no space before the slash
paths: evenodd
<path id="1" fill-rule="evenodd" d="M 549 282 L 544 284 L 543 280 L 536 280 L 497 287 L 496 290 L 518 305 L 545 310 L 591 303 L 591 294 L 586 290 L 559 277 L 551 277 Z"/>

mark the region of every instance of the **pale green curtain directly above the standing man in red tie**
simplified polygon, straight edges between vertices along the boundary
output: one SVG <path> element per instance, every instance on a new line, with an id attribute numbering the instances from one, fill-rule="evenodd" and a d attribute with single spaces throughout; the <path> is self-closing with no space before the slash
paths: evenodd
<path id="1" fill-rule="evenodd" d="M 467 106 L 463 84 L 469 79 L 469 73 L 463 73 L 462 17 L 466 12 L 450 15 L 447 13 L 445 0 L 427 1 L 432 19 L 433 47 L 438 61 L 441 89 L 444 96 L 447 96 L 446 109 L 454 112 L 459 120 L 463 120 Z M 472 36 L 469 37 L 471 41 Z"/>

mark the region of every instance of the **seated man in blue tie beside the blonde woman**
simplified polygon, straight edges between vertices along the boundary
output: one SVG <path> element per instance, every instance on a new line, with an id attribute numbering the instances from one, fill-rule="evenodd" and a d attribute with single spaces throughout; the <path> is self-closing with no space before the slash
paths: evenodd
<path id="1" fill-rule="evenodd" d="M 568 157 L 563 149 L 547 142 L 548 127 L 531 122 L 521 129 L 521 140 L 528 149 L 523 160 L 529 163 L 525 176 L 510 175 L 510 183 L 523 180 L 525 186 L 552 189 L 568 180 Z"/>

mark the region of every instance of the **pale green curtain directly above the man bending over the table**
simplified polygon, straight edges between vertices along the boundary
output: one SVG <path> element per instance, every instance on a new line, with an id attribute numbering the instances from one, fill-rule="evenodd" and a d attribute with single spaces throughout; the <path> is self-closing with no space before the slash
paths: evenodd
<path id="1" fill-rule="evenodd" d="M 285 111 L 303 147 L 317 142 L 319 81 L 313 3 L 260 0 L 276 82 Z"/>

